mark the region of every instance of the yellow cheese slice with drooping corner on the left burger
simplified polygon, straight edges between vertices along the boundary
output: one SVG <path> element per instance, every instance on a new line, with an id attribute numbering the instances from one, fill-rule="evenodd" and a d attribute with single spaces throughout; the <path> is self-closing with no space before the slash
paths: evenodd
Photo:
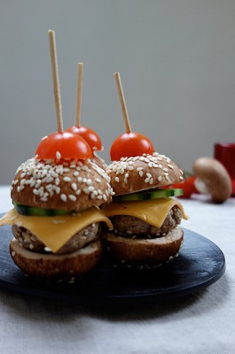
<path id="1" fill-rule="evenodd" d="M 12 209 L 0 219 L 0 226 L 8 224 L 26 227 L 45 246 L 57 252 L 75 233 L 100 221 L 113 228 L 111 221 L 98 207 L 92 207 L 78 215 L 59 216 L 25 216 Z"/>

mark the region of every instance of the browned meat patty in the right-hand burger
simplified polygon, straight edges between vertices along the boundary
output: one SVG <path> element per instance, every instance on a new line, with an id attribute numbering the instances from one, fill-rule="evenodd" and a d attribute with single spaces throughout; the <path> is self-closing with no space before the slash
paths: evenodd
<path id="1" fill-rule="evenodd" d="M 110 219 L 114 226 L 114 233 L 117 235 L 130 238 L 143 236 L 153 238 L 167 234 L 179 225 L 182 219 L 182 212 L 176 205 L 173 206 L 161 227 L 153 227 L 153 225 L 129 215 L 114 215 Z"/>

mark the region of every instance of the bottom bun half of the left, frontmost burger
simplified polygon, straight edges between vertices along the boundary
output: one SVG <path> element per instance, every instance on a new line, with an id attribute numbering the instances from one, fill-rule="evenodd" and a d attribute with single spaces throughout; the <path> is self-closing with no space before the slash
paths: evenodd
<path id="1" fill-rule="evenodd" d="M 90 242 L 80 250 L 63 255 L 43 254 L 20 247 L 15 238 L 10 242 L 12 260 L 24 273 L 43 281 L 68 281 L 90 272 L 101 258 L 101 242 Z"/>

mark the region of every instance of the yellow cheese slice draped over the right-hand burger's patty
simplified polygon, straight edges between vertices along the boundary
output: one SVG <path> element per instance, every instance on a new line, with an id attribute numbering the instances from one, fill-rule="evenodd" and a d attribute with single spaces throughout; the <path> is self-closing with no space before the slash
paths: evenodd
<path id="1" fill-rule="evenodd" d="M 102 208 L 106 217 L 130 215 L 142 219 L 154 227 L 161 227 L 173 206 L 181 210 L 183 218 L 188 219 L 182 204 L 176 199 L 161 198 L 145 201 L 113 202 Z"/>

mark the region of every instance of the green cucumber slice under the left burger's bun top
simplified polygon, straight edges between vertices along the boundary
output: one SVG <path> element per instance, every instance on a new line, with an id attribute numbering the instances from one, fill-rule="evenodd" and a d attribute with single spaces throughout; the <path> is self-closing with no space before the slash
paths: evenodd
<path id="1" fill-rule="evenodd" d="M 13 205 L 17 210 L 17 212 L 19 212 L 22 215 L 28 215 L 28 216 L 57 216 L 57 215 L 68 215 L 73 213 L 73 212 L 67 212 L 65 210 L 36 208 L 34 206 L 27 206 L 16 202 L 13 202 Z"/>

